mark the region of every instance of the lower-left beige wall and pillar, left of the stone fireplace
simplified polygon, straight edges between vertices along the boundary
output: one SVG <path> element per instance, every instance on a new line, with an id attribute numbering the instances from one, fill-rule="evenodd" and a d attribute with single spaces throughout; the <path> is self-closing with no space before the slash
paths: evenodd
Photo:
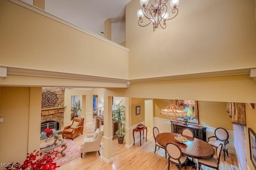
<path id="1" fill-rule="evenodd" d="M 1 87 L 0 96 L 1 162 L 22 163 L 26 153 L 40 147 L 42 88 Z"/>

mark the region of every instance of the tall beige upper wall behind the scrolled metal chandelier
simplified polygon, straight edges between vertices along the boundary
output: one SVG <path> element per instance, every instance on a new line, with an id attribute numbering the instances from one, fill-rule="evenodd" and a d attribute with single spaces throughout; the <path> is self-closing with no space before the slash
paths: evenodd
<path id="1" fill-rule="evenodd" d="M 153 32 L 152 24 L 138 26 L 141 6 L 132 0 L 126 5 L 129 79 L 256 67 L 254 7 L 254 0 L 180 1 L 176 18 Z"/>

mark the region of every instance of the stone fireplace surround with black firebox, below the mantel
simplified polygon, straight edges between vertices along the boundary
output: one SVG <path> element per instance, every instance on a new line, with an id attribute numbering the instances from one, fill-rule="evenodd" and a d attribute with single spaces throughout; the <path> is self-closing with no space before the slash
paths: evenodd
<path id="1" fill-rule="evenodd" d="M 64 108 L 52 107 L 41 109 L 41 132 L 47 127 L 56 128 L 58 131 L 64 128 Z"/>

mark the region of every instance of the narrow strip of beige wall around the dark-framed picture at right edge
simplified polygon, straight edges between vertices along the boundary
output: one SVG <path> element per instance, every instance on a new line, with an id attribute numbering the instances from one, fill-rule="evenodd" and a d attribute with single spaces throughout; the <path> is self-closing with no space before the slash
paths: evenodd
<path id="1" fill-rule="evenodd" d="M 256 103 L 254 103 L 256 106 Z M 254 170 L 254 166 L 252 161 L 250 160 L 250 147 L 249 147 L 249 136 L 248 136 L 248 128 L 251 128 L 254 132 L 256 132 L 256 125 L 255 125 L 255 115 L 256 115 L 256 108 L 250 109 L 249 106 L 245 105 L 246 110 L 246 150 L 247 150 L 247 164 L 250 170 Z"/>

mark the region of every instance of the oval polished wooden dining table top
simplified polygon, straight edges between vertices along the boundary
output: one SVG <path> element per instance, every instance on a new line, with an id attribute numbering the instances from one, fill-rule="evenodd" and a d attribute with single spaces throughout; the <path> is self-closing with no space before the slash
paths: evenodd
<path id="1" fill-rule="evenodd" d="M 176 140 L 174 136 L 179 135 L 181 134 L 172 132 L 160 133 L 156 136 L 156 141 L 164 148 L 166 148 L 166 144 L 172 142 L 180 147 L 183 155 L 188 156 L 190 158 L 209 159 L 214 156 L 215 150 L 207 142 L 204 142 L 203 140 L 200 140 L 198 138 L 193 138 L 185 135 L 183 136 L 186 137 L 188 141 L 178 142 L 178 140 Z"/>

